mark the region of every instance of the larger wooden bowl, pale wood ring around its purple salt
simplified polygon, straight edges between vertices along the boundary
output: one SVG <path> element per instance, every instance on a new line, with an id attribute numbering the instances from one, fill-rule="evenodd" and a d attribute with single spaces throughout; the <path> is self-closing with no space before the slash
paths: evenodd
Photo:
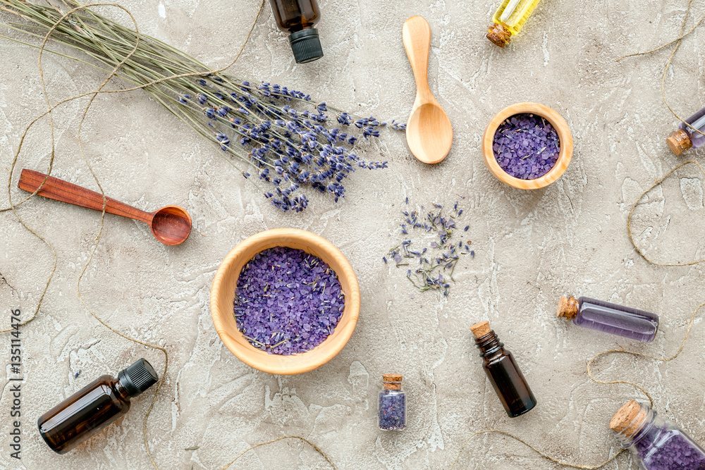
<path id="1" fill-rule="evenodd" d="M 336 271 L 341 282 L 345 293 L 343 316 L 333 333 L 310 351 L 284 356 L 258 350 L 240 333 L 233 317 L 233 302 L 240 271 L 255 254 L 271 247 L 297 248 L 318 256 Z M 228 350 L 248 366 L 282 376 L 304 373 L 333 359 L 350 340 L 360 317 L 360 286 L 353 266 L 331 242 L 306 230 L 275 228 L 243 240 L 223 259 L 211 287 L 211 316 Z"/>

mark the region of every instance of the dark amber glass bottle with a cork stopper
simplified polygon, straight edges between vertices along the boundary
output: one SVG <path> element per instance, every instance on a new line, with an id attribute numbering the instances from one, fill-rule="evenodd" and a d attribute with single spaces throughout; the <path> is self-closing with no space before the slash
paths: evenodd
<path id="1" fill-rule="evenodd" d="M 519 370 L 511 352 L 504 349 L 497 335 L 489 328 L 489 321 L 481 321 L 470 327 L 479 347 L 482 367 L 489 377 L 510 418 L 525 414 L 536 406 L 536 397 Z"/>

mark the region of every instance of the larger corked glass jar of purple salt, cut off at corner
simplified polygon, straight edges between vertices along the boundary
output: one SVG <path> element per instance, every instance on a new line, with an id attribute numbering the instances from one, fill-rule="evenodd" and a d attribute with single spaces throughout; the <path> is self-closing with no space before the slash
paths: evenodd
<path id="1" fill-rule="evenodd" d="M 674 423 L 646 404 L 630 400 L 610 428 L 643 470 L 705 470 L 705 450 Z"/>

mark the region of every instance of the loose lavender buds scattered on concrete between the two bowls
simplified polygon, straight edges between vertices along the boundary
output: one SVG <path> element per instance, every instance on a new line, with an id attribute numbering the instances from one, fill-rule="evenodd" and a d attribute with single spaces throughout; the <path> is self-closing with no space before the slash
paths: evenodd
<path id="1" fill-rule="evenodd" d="M 408 198 L 405 199 L 405 204 L 408 204 L 408 201 Z M 421 292 L 432 289 L 442 292 L 443 296 L 448 296 L 450 289 L 448 281 L 455 282 L 453 271 L 460 261 L 460 255 L 472 253 L 471 256 L 474 257 L 474 251 L 470 250 L 472 243 L 470 240 L 467 242 L 452 240 L 453 233 L 458 228 L 455 221 L 462 216 L 462 209 L 458 209 L 458 202 L 453 204 L 450 216 L 443 215 L 441 204 L 434 204 L 433 207 L 434 209 L 425 216 L 421 216 L 417 211 L 402 211 L 404 222 L 401 224 L 401 233 L 408 235 L 410 231 L 416 231 L 434 234 L 438 238 L 433 237 L 430 242 L 429 237 L 421 240 L 419 245 L 427 245 L 422 249 L 416 249 L 416 245 L 410 239 L 403 240 L 389 250 L 382 260 L 385 264 L 388 260 L 394 261 L 397 267 L 409 266 L 406 277 Z M 421 206 L 421 209 L 423 210 L 424 207 Z M 459 229 L 458 233 L 465 233 L 468 228 L 470 225 Z"/>

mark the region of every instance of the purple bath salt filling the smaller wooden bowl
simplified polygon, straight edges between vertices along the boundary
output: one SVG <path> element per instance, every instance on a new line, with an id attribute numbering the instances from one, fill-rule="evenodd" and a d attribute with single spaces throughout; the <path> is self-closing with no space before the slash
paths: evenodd
<path id="1" fill-rule="evenodd" d="M 515 114 L 494 134 L 494 157 L 510 176 L 535 180 L 556 164 L 560 151 L 558 133 L 541 116 Z"/>

